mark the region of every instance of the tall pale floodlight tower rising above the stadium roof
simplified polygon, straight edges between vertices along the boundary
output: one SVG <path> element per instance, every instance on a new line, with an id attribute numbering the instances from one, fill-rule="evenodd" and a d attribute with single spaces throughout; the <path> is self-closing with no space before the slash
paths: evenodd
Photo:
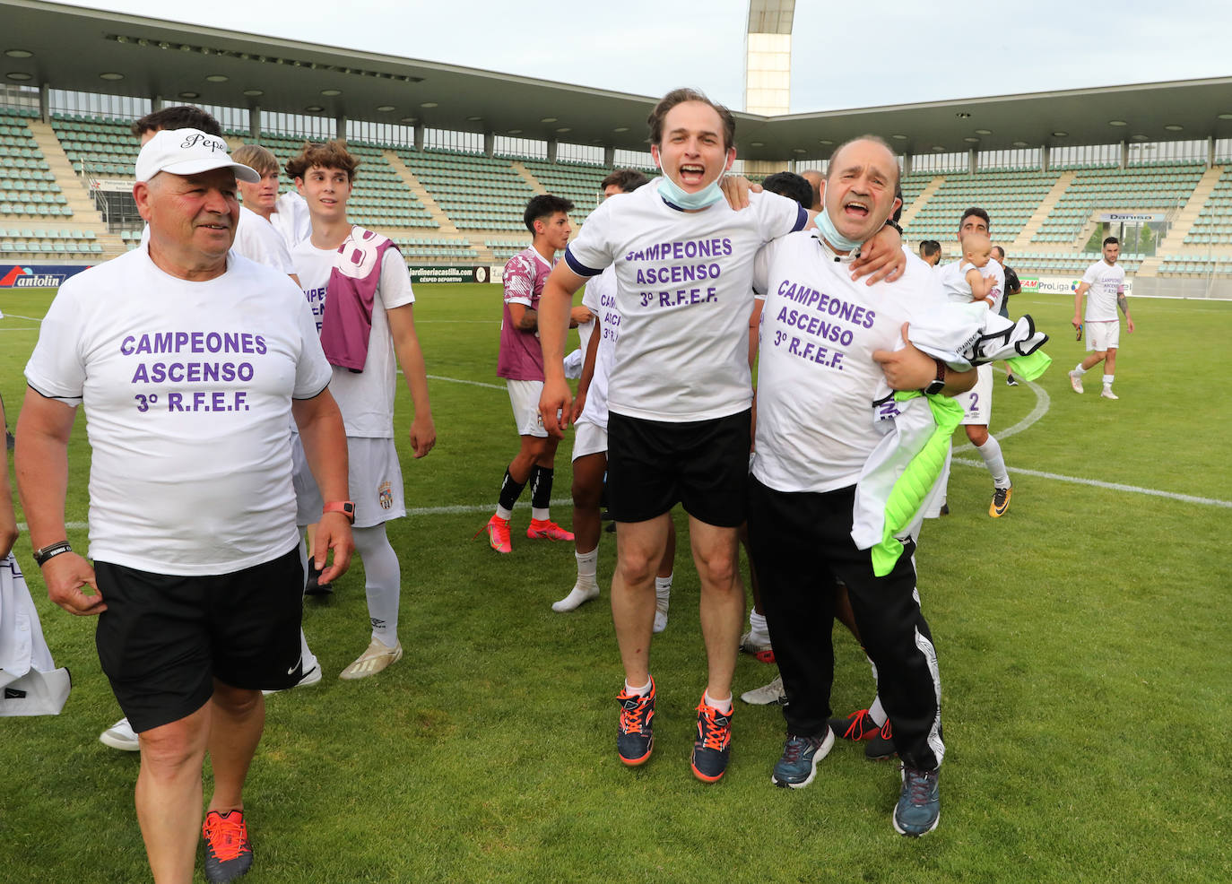
<path id="1" fill-rule="evenodd" d="M 744 110 L 774 117 L 791 111 L 791 26 L 796 0 L 749 0 L 744 34 Z M 748 172 L 774 172 L 784 164 L 747 161 Z"/>

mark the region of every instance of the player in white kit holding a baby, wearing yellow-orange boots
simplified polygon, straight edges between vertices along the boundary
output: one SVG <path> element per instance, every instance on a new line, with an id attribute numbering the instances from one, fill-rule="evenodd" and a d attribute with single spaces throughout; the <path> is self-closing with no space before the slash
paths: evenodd
<path id="1" fill-rule="evenodd" d="M 988 238 L 988 213 L 982 208 L 972 206 L 962 213 L 958 222 L 958 241 L 966 236 L 978 235 Z M 950 300 L 971 303 L 970 292 L 963 295 L 961 284 L 954 282 L 954 277 L 961 281 L 965 270 L 960 271 L 963 261 L 956 261 L 938 270 L 942 286 L 950 281 Z M 970 268 L 970 266 L 968 266 Z M 988 259 L 984 267 L 984 277 L 992 277 L 989 287 L 984 293 L 984 302 L 993 313 L 1000 310 L 1002 298 L 1005 292 L 1005 271 L 995 259 Z M 1013 483 L 1009 479 L 1009 469 L 1005 467 L 1005 456 L 1002 453 L 1000 442 L 988 432 L 988 424 L 993 415 L 993 367 L 991 364 L 979 366 L 979 379 L 970 392 L 955 396 L 962 404 L 962 424 L 967 431 L 967 440 L 975 446 L 979 457 L 983 458 L 984 467 L 993 478 L 993 499 L 988 505 L 988 515 L 1000 518 L 1009 510 L 1009 500 L 1014 494 Z"/>

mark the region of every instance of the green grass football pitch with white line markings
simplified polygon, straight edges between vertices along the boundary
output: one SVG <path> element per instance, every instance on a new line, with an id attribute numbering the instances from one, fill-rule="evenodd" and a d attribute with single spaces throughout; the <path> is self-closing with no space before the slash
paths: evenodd
<path id="1" fill-rule="evenodd" d="M 1114 403 L 1098 398 L 1098 377 L 1083 396 L 1069 389 L 1066 371 L 1082 356 L 1069 298 L 1011 302 L 1053 334 L 1056 362 L 1035 387 L 1009 389 L 997 376 L 992 430 L 1014 476 L 1009 513 L 987 516 L 992 481 L 977 456 L 957 451 L 952 515 L 924 529 L 920 595 L 947 752 L 940 827 L 909 841 L 890 822 L 896 768 L 866 762 L 859 746 L 837 745 L 807 789 L 770 784 L 776 707 L 737 702 L 728 776 L 694 779 L 705 657 L 685 532 L 670 623 L 652 655 L 655 753 L 641 769 L 618 763 L 606 586 L 599 602 L 553 613 L 573 584 L 573 553 L 526 540 L 526 510 L 513 555 L 471 539 L 516 447 L 495 378 L 499 288 L 418 294 L 439 443 L 414 460 L 399 440 L 416 508 L 391 526 L 407 654 L 378 677 L 339 681 L 368 640 L 362 566 L 333 597 L 308 600 L 325 680 L 269 699 L 246 789 L 256 864 L 245 880 L 1232 879 L 1232 304 L 1136 300 Z M 49 298 L 0 293 L 10 425 Z M 405 389 L 398 403 L 404 433 Z M 565 441 L 557 499 L 569 494 L 568 452 Z M 68 518 L 84 522 L 80 419 L 70 459 Z M 565 505 L 554 516 L 569 523 Z M 84 547 L 84 531 L 70 538 Z M 601 582 L 614 547 L 605 534 Z M 16 553 L 74 687 L 57 718 L 0 719 L 0 882 L 145 880 L 138 760 L 96 739 L 120 713 L 94 623 L 47 601 L 27 537 Z M 872 682 L 838 630 L 833 702 L 846 713 L 867 704 Z M 774 675 L 742 657 L 737 692 Z"/>

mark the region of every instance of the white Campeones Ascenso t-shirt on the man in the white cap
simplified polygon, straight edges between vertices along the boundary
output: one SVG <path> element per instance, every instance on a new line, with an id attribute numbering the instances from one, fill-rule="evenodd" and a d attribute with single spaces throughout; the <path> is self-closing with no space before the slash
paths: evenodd
<path id="1" fill-rule="evenodd" d="M 229 255 L 187 282 L 144 249 L 74 276 L 43 319 L 26 379 L 84 404 L 91 558 L 159 574 L 229 574 L 296 544 L 291 400 L 329 383 L 303 295 Z"/>

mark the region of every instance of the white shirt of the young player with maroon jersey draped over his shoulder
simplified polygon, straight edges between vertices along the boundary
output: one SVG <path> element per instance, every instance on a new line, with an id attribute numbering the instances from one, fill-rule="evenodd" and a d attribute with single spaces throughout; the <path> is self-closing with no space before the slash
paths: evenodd
<path id="1" fill-rule="evenodd" d="M 325 310 L 329 273 L 338 257 L 336 249 L 318 249 L 306 240 L 291 251 L 299 287 L 312 308 L 320 331 Z M 372 332 L 362 372 L 334 366 L 329 392 L 338 400 L 347 436 L 393 438 L 393 396 L 398 385 L 393 335 L 386 310 L 415 303 L 410 275 L 397 249 L 387 249 L 381 262 L 381 284 L 372 303 Z"/>

